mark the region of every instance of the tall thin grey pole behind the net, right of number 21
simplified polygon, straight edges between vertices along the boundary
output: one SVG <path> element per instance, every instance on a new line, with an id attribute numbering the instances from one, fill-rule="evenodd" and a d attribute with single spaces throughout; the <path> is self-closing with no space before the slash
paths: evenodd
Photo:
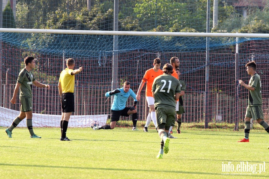
<path id="1" fill-rule="evenodd" d="M 207 33 L 210 33 L 210 0 L 207 0 Z M 204 128 L 208 128 L 208 113 L 209 113 L 209 37 L 207 37 L 206 47 L 206 80 L 205 80 L 205 95 L 204 95 Z"/>

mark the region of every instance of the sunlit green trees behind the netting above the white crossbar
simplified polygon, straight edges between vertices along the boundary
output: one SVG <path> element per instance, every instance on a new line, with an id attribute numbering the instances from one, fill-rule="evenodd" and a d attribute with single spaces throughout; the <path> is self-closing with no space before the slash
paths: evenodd
<path id="1" fill-rule="evenodd" d="M 212 26 L 213 0 L 210 3 Z M 113 0 L 92 0 L 91 11 L 84 0 L 20 0 L 16 9 L 19 28 L 113 30 Z M 218 25 L 212 32 L 268 32 L 268 6 L 250 7 L 247 13 L 244 18 L 230 0 L 219 1 Z M 258 19 L 263 26 L 255 22 Z M 120 31 L 205 32 L 207 0 L 120 0 L 118 20 Z"/>

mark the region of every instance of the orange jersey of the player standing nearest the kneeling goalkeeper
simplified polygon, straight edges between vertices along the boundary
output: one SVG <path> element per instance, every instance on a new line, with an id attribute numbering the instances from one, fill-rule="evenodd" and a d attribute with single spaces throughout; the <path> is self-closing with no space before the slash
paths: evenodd
<path id="1" fill-rule="evenodd" d="M 153 68 L 147 70 L 145 72 L 145 75 L 142 79 L 143 82 L 147 82 L 147 87 L 146 87 L 146 96 L 149 96 L 149 97 L 153 97 L 152 96 L 152 84 L 153 84 L 153 81 L 154 79 L 157 77 L 157 76 L 160 76 L 160 75 L 163 75 L 163 70 L 158 70 L 158 72 L 155 72 L 153 70 Z M 177 75 L 177 74 L 176 74 Z"/>

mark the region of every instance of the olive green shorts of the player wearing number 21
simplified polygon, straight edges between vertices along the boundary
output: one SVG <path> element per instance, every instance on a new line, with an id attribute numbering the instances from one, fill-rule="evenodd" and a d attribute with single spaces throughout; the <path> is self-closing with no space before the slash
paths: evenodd
<path id="1" fill-rule="evenodd" d="M 158 129 L 169 130 L 170 126 L 175 126 L 175 108 L 167 106 L 155 107 Z"/>

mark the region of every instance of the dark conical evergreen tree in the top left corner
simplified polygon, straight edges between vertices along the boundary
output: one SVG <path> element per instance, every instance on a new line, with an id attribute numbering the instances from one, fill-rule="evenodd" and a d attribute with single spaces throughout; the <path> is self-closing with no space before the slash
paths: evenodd
<path id="1" fill-rule="evenodd" d="M 3 10 L 3 28 L 16 28 L 16 22 L 13 16 L 13 11 L 10 6 L 10 1 L 7 1 L 7 5 Z"/>

